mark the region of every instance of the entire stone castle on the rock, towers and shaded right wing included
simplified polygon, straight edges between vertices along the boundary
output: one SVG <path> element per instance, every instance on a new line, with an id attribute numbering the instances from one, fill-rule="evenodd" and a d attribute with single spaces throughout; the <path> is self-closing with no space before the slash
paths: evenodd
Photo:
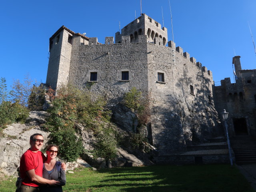
<path id="1" fill-rule="evenodd" d="M 238 119 L 245 118 L 238 115 L 246 109 L 238 95 L 242 92 L 246 100 L 246 90 L 255 87 L 256 80 L 250 76 L 251 83 L 243 84 L 252 72 L 241 70 L 240 62 L 236 67 L 240 83 L 230 84 L 226 78 L 222 86 L 214 86 L 212 72 L 174 42 L 168 42 L 167 28 L 146 14 L 115 35 L 115 43 L 114 37 L 106 37 L 101 44 L 97 38 L 65 26 L 59 28 L 50 38 L 46 84 L 53 89 L 67 83 L 79 88 L 90 86 L 92 92 L 108 100 L 113 111 L 118 111 L 118 103 L 132 87 L 150 94 L 151 122 L 145 135 L 159 155 L 179 154 L 194 143 L 223 135 L 218 117 L 223 108 L 236 112 Z M 234 58 L 234 62 L 238 60 Z M 235 92 L 237 98 L 227 102 Z M 255 89 L 249 92 L 256 94 Z M 238 109 L 236 102 L 240 102 Z M 250 119 L 255 119 L 255 102 L 251 107 L 254 117 L 250 114 L 245 121 L 248 130 L 255 130 Z"/>

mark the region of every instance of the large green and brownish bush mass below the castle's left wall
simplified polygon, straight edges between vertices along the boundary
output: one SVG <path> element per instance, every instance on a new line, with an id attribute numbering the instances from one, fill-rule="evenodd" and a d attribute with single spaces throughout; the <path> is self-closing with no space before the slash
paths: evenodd
<path id="1" fill-rule="evenodd" d="M 75 123 L 80 123 L 94 131 L 97 138 L 96 151 L 99 156 L 112 157 L 102 153 L 102 150 L 107 153 L 106 142 L 111 135 L 110 132 L 104 132 L 110 116 L 109 111 L 104 109 L 106 102 L 102 98 L 97 98 L 88 90 L 80 90 L 70 85 L 60 87 L 56 95 L 49 90 L 48 96 L 52 100 L 52 106 L 48 110 L 49 116 L 46 118 L 45 128 L 51 132 L 49 142 L 61 146 L 62 158 L 73 161 L 83 152 L 82 140 L 76 134 Z M 112 144 L 116 147 L 115 142 L 112 141 Z M 116 151 L 111 150 L 108 153 L 116 154 Z"/>

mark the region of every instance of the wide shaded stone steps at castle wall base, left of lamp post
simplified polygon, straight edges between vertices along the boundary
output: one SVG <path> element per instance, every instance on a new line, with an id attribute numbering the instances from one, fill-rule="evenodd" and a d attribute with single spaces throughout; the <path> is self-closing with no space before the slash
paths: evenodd
<path id="1" fill-rule="evenodd" d="M 224 137 L 208 140 L 200 145 L 187 146 L 187 151 L 175 155 L 160 155 L 156 164 L 214 164 L 230 163 L 228 145 Z"/>

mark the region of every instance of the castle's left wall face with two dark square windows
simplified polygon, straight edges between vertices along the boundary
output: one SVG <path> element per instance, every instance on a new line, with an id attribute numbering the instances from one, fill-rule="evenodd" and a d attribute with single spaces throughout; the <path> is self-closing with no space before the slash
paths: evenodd
<path id="1" fill-rule="evenodd" d="M 69 82 L 108 98 L 112 105 L 120 102 L 132 87 L 148 91 L 147 48 L 144 36 L 138 43 L 80 45 L 73 38 Z M 122 80 L 122 71 L 129 80 Z M 97 72 L 97 81 L 90 81 L 90 72 Z"/>

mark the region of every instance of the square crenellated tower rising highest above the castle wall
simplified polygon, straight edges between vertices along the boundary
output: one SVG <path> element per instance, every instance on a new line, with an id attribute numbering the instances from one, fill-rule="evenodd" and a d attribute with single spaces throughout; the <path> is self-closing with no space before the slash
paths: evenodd
<path id="1" fill-rule="evenodd" d="M 156 41 L 155 38 L 162 38 L 163 44 L 168 42 L 167 28 L 161 28 L 161 24 L 146 14 L 142 14 L 126 25 L 120 32 L 116 32 L 116 43 L 122 42 L 122 36 L 130 36 L 130 42 L 138 42 L 138 35 L 146 35 L 147 42 Z"/>

